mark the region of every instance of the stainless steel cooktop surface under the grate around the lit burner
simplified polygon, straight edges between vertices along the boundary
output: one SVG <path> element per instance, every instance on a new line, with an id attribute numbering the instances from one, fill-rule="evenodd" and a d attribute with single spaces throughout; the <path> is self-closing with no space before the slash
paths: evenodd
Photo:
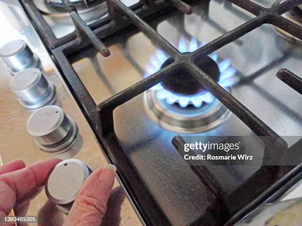
<path id="1" fill-rule="evenodd" d="M 269 7 L 274 1 L 257 3 Z M 157 32 L 182 52 L 191 52 L 254 17 L 225 1 L 191 5 L 194 6 L 191 15 L 173 11 L 151 22 Z M 103 58 L 93 47 L 69 56 L 96 103 L 154 73 L 169 58 L 142 32 L 126 32 L 106 44 L 112 53 L 109 58 Z M 263 25 L 209 57 L 219 66 L 220 84 L 278 135 L 285 136 L 289 146 L 301 138 L 301 96 L 275 76 L 282 67 L 299 75 L 300 42 L 280 35 L 270 25 Z M 177 134 L 253 134 L 235 115 L 219 108 L 219 104 L 211 96 L 186 98 L 155 87 L 114 110 L 114 129 L 119 141 L 175 225 L 188 224 L 200 216 L 209 203 L 203 185 L 189 167 L 185 167 L 171 144 L 172 138 Z M 215 117 L 204 120 L 203 125 L 196 125 L 193 120 L 189 125 L 189 128 L 195 127 L 193 131 L 186 128 L 189 120 L 204 114 Z M 166 119 L 169 115 L 174 121 Z M 210 167 L 229 192 L 258 168 Z M 232 173 L 224 173 L 226 170 Z"/>

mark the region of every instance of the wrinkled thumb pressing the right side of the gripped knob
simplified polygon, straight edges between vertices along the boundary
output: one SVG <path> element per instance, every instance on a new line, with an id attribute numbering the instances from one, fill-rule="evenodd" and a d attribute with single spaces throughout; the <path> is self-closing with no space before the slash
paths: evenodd
<path id="1" fill-rule="evenodd" d="M 64 226 L 99 226 L 114 183 L 116 168 L 112 164 L 95 170 L 84 182 L 64 222 Z"/>

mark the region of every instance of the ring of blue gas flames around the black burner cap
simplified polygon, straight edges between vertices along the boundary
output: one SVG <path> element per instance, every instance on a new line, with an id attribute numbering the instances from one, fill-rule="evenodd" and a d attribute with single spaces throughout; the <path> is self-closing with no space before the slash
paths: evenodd
<path id="1" fill-rule="evenodd" d="M 203 46 L 204 43 L 198 43 L 195 38 L 192 38 L 189 46 L 186 43 L 186 40 L 181 37 L 178 43 L 178 50 L 182 53 L 192 52 L 197 48 Z M 218 54 L 212 53 L 209 55 L 219 66 L 220 70 L 220 79 L 218 84 L 224 88 L 231 86 L 233 83 L 228 80 L 236 73 L 236 69 L 231 66 L 231 61 L 229 59 L 218 62 Z M 160 66 L 168 59 L 169 57 L 161 49 L 157 49 L 155 54 L 150 57 L 150 63 L 146 66 L 145 77 L 157 72 Z M 161 84 L 153 86 L 151 89 L 156 90 L 156 97 L 159 99 L 165 100 L 168 104 L 178 103 L 181 107 L 185 108 L 189 104 L 192 104 L 194 107 L 201 107 L 203 103 L 212 103 L 215 100 L 215 97 L 207 92 L 203 95 L 196 95 L 192 97 L 183 97 L 172 94 L 171 92 L 165 90 Z"/>

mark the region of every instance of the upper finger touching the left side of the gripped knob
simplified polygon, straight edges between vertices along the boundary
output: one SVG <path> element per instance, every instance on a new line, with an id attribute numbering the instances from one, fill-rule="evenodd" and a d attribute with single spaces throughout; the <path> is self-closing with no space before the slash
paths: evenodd
<path id="1" fill-rule="evenodd" d="M 8 214 L 17 199 L 44 185 L 51 169 L 61 160 L 41 161 L 29 167 L 0 175 L 0 213 Z"/>

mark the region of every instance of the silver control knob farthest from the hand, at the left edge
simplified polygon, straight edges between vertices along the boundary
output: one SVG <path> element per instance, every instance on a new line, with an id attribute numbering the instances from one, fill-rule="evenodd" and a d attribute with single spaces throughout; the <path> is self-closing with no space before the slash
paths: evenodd
<path id="1" fill-rule="evenodd" d="M 25 68 L 40 68 L 38 56 L 32 52 L 23 40 L 14 40 L 2 46 L 0 48 L 0 58 L 7 65 L 12 75 Z"/>

